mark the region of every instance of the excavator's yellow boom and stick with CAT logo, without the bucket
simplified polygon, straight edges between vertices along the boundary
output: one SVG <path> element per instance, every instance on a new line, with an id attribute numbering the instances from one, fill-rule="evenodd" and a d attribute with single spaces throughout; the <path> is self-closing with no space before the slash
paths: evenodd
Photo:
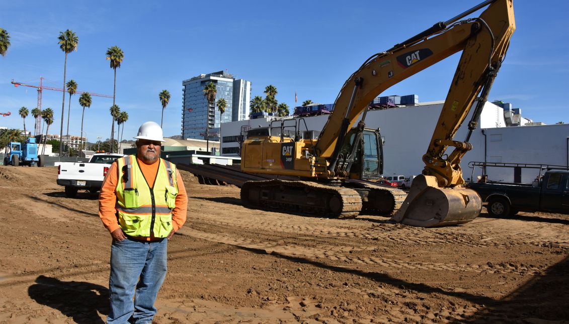
<path id="1" fill-rule="evenodd" d="M 442 155 L 449 143 L 436 140 L 452 139 L 483 86 L 490 62 L 501 61 L 515 28 L 511 0 L 486 1 L 464 14 L 488 3 L 492 4 L 479 18 L 437 23 L 414 38 L 366 60 L 341 88 L 316 144 L 317 155 L 329 158 L 333 164 L 337 159 L 335 151 L 341 147 L 344 136 L 377 95 L 463 51 L 428 149 L 430 155 Z"/>

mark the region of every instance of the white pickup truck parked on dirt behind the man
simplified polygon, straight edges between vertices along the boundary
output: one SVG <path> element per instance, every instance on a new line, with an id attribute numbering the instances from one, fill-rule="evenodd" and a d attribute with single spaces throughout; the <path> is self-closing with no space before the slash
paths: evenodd
<path id="1" fill-rule="evenodd" d="M 57 169 L 57 184 L 65 186 L 65 196 L 74 198 L 80 189 L 97 192 L 114 160 L 122 154 L 95 153 L 89 162 L 62 162 Z"/>

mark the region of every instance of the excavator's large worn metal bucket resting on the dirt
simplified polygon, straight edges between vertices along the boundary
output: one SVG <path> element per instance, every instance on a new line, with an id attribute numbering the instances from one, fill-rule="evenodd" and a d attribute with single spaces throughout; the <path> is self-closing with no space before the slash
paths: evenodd
<path id="1" fill-rule="evenodd" d="M 418 227 L 451 226 L 472 221 L 480 210 L 482 200 L 474 190 L 439 188 L 436 177 L 419 175 L 391 221 Z"/>

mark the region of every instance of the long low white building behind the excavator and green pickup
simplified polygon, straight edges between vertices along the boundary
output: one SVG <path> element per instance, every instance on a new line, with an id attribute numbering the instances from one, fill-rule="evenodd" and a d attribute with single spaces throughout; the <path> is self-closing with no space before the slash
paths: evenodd
<path id="1" fill-rule="evenodd" d="M 381 136 L 385 140 L 385 176 L 420 174 L 424 167 L 422 156 L 427 151 L 442 107 L 443 101 L 436 101 L 368 112 L 366 127 L 380 128 Z M 455 140 L 465 139 L 472 113 L 473 110 L 455 135 Z M 327 119 L 328 115 L 321 115 L 306 117 L 304 122 L 308 130 L 320 131 Z M 280 124 L 282 119 L 266 117 L 224 123 L 221 127 L 221 154 L 238 156 L 241 151 L 240 136 L 246 134 L 246 130 L 269 126 L 271 122 L 277 123 L 277 120 Z M 298 121 L 298 118 L 296 120 Z M 304 130 L 304 122 L 300 122 L 300 130 Z M 514 124 L 521 126 L 507 127 Z M 569 124 L 523 126 L 526 124 L 539 123 L 522 118 L 519 110 L 516 115 L 512 114 L 510 109 L 486 102 L 478 127 L 469 140 L 473 149 L 464 156 L 461 163 L 465 180 L 472 174 L 472 169 L 468 168 L 471 161 L 569 165 Z M 498 171 L 492 171 L 490 168 L 488 171 L 491 180 L 513 181 L 513 169 L 502 169 L 502 173 L 494 177 L 491 172 Z M 475 172 L 475 176 L 477 175 L 480 175 L 479 171 Z M 535 170 L 524 170 L 522 181 L 531 182 L 536 175 Z"/>

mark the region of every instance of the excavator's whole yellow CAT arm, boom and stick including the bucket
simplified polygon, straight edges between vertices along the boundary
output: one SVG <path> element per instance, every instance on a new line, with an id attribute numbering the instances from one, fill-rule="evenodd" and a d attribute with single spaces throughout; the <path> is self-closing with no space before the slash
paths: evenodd
<path id="1" fill-rule="evenodd" d="M 485 6 L 488 7 L 479 17 L 460 20 Z M 378 94 L 462 51 L 427 153 L 423 156 L 423 175 L 413 181 L 409 195 L 393 221 L 430 227 L 465 223 L 476 218 L 481 210 L 481 200 L 472 190 L 462 188 L 460 160 L 472 148 L 468 140 L 476 128 L 515 28 L 512 0 L 488 0 L 366 60 L 341 88 L 334 111 L 316 144 L 316 155 L 329 161 L 328 176 L 343 175 L 342 168 L 349 165 L 347 157 L 340 154 L 345 136 L 362 113 L 365 118 L 369 103 Z M 475 101 L 477 105 L 468 124 L 467 138 L 464 142 L 454 140 Z M 447 155 L 449 147 L 453 151 Z"/>

